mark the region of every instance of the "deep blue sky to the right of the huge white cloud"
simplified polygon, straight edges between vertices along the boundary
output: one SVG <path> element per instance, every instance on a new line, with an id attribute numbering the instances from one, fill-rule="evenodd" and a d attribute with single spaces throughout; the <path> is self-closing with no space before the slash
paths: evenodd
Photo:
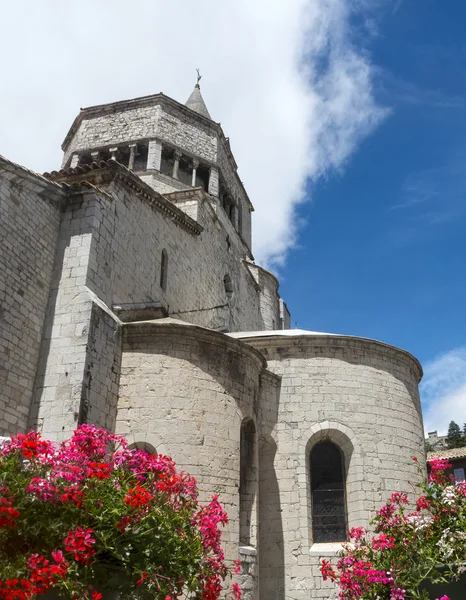
<path id="1" fill-rule="evenodd" d="M 466 383 L 466 4 L 395 8 L 378 13 L 376 35 L 361 36 L 390 113 L 342 171 L 308 182 L 312 202 L 298 210 L 305 225 L 282 291 L 300 328 L 418 357 L 434 409 L 426 426 L 444 431 L 466 420 L 466 394 L 450 401 Z M 453 382 L 446 355 L 463 355 Z M 432 390 L 439 360 L 446 384 Z"/>

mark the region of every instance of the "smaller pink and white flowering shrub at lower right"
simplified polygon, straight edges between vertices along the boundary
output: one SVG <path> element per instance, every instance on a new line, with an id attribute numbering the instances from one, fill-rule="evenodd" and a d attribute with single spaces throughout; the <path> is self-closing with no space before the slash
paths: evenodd
<path id="1" fill-rule="evenodd" d="M 430 467 L 414 505 L 407 494 L 392 494 L 372 521 L 374 535 L 353 528 L 336 567 L 322 561 L 323 578 L 338 583 L 341 600 L 428 599 L 424 582 L 453 581 L 466 569 L 466 484 L 447 477 L 446 460 Z"/>

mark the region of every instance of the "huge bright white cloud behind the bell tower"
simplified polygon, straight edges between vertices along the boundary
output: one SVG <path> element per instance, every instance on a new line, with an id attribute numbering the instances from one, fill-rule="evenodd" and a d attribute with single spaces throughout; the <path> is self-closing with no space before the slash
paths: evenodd
<path id="1" fill-rule="evenodd" d="M 2 10 L 0 152 L 60 163 L 79 107 L 163 91 L 184 102 L 204 73 L 256 206 L 255 252 L 279 263 L 306 178 L 341 167 L 384 118 L 351 41 L 352 0 L 16 0 Z"/>

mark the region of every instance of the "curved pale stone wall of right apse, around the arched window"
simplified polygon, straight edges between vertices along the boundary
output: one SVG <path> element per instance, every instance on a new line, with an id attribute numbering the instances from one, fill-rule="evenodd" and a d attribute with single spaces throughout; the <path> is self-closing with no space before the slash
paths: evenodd
<path id="1" fill-rule="evenodd" d="M 367 526 L 392 492 L 411 492 L 419 479 L 412 457 L 424 461 L 420 366 L 369 340 L 246 336 L 282 377 L 277 424 L 259 454 L 261 597 L 336 598 L 319 562 L 340 545 L 312 541 L 310 451 L 323 439 L 341 448 L 348 526 Z"/>

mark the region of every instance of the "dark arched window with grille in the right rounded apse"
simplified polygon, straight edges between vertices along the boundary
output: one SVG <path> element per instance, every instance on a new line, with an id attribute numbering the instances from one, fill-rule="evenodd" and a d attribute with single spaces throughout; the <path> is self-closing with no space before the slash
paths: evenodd
<path id="1" fill-rule="evenodd" d="M 345 469 L 340 448 L 330 441 L 311 450 L 312 539 L 343 542 L 347 537 Z"/>

